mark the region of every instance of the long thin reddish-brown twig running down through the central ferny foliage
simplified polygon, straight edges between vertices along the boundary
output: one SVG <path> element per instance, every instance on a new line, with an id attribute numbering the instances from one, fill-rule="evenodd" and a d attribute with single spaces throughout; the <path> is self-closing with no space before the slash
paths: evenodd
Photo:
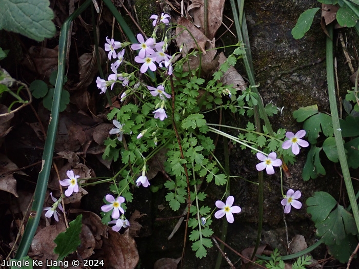
<path id="1" fill-rule="evenodd" d="M 181 152 L 181 159 L 185 159 L 185 155 L 183 154 L 183 150 L 182 150 L 181 138 L 179 137 L 178 130 L 177 130 L 177 127 L 176 127 L 176 122 L 174 121 L 174 85 L 173 85 L 172 75 L 170 75 L 170 82 L 171 82 L 171 89 L 172 89 L 172 124 L 173 124 L 174 132 L 176 134 L 177 143 L 178 143 L 178 147 L 179 147 L 179 152 Z M 183 168 L 185 169 L 186 180 L 187 180 L 187 193 L 188 193 L 187 205 L 188 205 L 188 210 L 187 210 L 187 218 L 186 218 L 186 229 L 185 229 L 185 238 L 184 238 L 184 243 L 183 243 L 181 268 L 183 267 L 183 260 L 184 260 L 184 257 L 185 257 L 187 232 L 188 232 L 189 211 L 191 209 L 191 192 L 190 192 L 190 189 L 189 189 L 189 177 L 188 177 L 188 171 L 187 171 L 186 163 L 183 164 Z"/>

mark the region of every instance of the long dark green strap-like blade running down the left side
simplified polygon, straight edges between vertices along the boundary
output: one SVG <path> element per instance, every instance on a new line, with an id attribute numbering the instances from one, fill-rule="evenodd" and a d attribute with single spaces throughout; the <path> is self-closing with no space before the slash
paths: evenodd
<path id="1" fill-rule="evenodd" d="M 50 114 L 49 128 L 47 130 L 47 137 L 44 146 L 42 168 L 37 178 L 34 201 L 31 207 L 31 214 L 25 227 L 23 238 L 21 239 L 21 242 L 18 246 L 15 259 L 20 259 L 27 255 L 32 239 L 34 238 L 38 222 L 40 220 L 41 212 L 43 210 L 57 133 L 58 113 L 66 63 L 67 32 L 69 31 L 69 26 L 72 20 L 81 14 L 91 3 L 91 0 L 87 0 L 81 7 L 79 7 L 74 13 L 71 14 L 71 16 L 65 20 L 65 23 L 61 28 L 58 44 L 58 72 Z"/>

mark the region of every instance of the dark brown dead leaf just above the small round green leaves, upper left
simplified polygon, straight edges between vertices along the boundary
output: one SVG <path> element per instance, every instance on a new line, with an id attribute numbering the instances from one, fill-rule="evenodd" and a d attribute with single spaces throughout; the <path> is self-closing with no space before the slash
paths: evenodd
<path id="1" fill-rule="evenodd" d="M 29 60 L 29 57 L 25 57 L 23 64 L 42 78 L 49 78 L 51 72 L 57 70 L 58 46 L 54 49 L 31 46 L 29 54 L 32 61 Z"/>

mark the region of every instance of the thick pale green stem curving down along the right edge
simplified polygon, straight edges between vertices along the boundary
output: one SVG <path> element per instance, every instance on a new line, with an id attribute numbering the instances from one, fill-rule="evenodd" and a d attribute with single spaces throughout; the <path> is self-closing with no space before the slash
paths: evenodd
<path id="1" fill-rule="evenodd" d="M 327 80 L 328 80 L 328 96 L 330 104 L 330 113 L 332 115 L 335 143 L 338 151 L 338 158 L 341 164 L 345 187 L 349 197 L 350 204 L 353 209 L 356 228 L 359 231 L 359 210 L 356 203 L 353 184 L 349 173 L 347 158 L 342 138 L 342 130 L 339 123 L 338 110 L 336 106 L 335 86 L 334 86 L 334 69 L 333 69 L 333 25 L 328 28 L 329 36 L 327 36 Z"/>

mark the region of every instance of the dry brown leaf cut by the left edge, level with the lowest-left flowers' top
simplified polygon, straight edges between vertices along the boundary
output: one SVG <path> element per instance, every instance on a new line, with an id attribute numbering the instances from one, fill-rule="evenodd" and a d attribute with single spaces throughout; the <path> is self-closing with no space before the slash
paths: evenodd
<path id="1" fill-rule="evenodd" d="M 0 153 L 0 190 L 13 194 L 15 197 L 18 197 L 16 192 L 16 179 L 14 178 L 14 173 L 9 173 L 10 171 L 18 169 L 17 165 L 13 163 L 7 156 Z M 17 174 L 26 175 L 22 171 L 17 171 Z"/>

